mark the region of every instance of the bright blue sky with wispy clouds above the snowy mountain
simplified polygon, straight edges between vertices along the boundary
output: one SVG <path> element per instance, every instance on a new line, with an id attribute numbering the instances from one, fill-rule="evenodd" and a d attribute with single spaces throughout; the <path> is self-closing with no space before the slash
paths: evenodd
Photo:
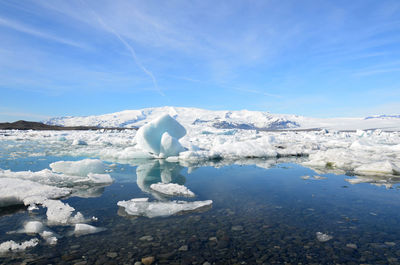
<path id="1" fill-rule="evenodd" d="M 400 113 L 400 1 L 0 0 L 0 121 Z"/>

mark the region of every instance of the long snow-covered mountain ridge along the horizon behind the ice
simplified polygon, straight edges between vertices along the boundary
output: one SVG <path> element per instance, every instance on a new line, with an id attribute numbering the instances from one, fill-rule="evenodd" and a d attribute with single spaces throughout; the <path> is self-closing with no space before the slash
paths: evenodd
<path id="1" fill-rule="evenodd" d="M 141 127 L 151 120 L 169 114 L 185 127 L 216 129 L 384 129 L 400 130 L 400 115 L 367 118 L 309 118 L 297 115 L 271 114 L 261 111 L 212 111 L 198 108 L 157 107 L 125 110 L 116 113 L 85 117 L 56 117 L 44 121 L 49 125 Z"/>

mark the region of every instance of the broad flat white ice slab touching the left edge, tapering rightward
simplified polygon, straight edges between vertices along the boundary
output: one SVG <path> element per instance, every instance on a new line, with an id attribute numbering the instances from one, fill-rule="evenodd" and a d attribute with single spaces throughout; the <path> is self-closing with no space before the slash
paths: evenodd
<path id="1" fill-rule="evenodd" d="M 41 203 L 46 199 L 58 199 L 71 193 L 70 189 L 52 187 L 29 180 L 0 179 L 0 207 Z"/>

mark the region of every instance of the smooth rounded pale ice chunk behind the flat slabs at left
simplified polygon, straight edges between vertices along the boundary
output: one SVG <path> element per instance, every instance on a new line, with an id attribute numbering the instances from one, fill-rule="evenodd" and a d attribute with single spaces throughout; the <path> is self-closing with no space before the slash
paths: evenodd
<path id="1" fill-rule="evenodd" d="M 50 168 L 57 173 L 73 176 L 87 176 L 89 173 L 104 173 L 106 169 L 99 159 L 83 159 L 79 161 L 58 161 L 50 164 Z"/>

